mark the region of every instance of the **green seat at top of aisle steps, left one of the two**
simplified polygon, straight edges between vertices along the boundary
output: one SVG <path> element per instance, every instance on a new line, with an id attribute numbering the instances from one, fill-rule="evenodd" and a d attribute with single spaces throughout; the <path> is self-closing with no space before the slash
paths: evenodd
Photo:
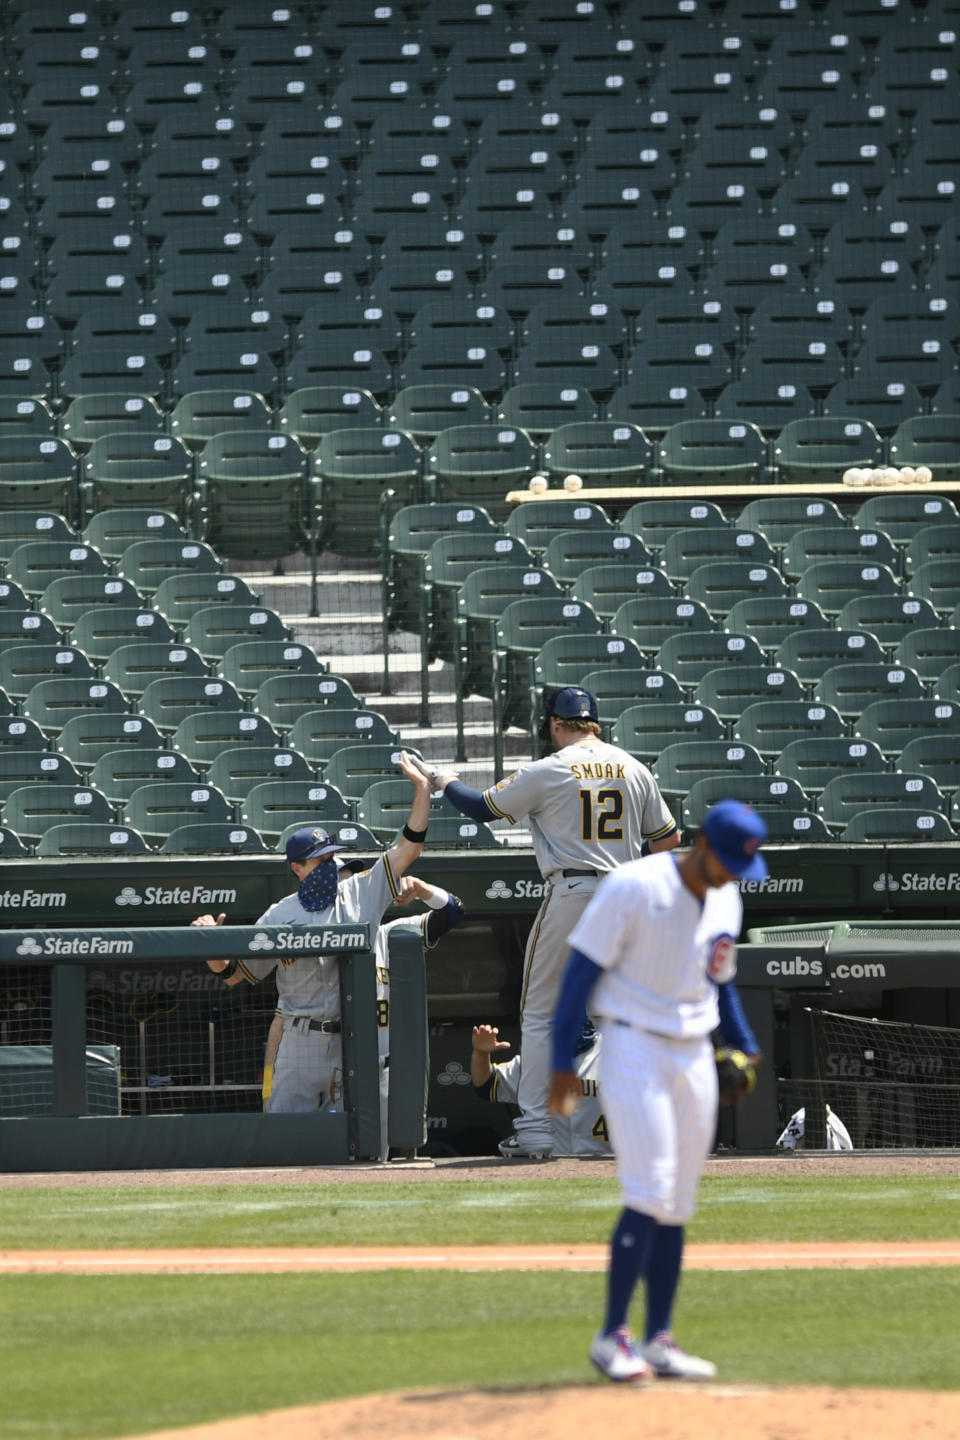
<path id="1" fill-rule="evenodd" d="M 226 431 L 197 461 L 197 513 L 217 554 L 279 560 L 309 549 L 317 572 L 320 495 L 292 435 Z"/>

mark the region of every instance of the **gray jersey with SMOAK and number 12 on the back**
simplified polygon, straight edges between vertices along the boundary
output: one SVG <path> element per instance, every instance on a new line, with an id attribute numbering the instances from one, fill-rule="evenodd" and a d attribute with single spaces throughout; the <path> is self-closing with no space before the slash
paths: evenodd
<path id="1" fill-rule="evenodd" d="M 674 829 L 646 766 L 593 736 L 522 766 L 484 799 L 511 824 L 527 816 L 545 878 L 560 870 L 615 870 L 639 860 L 645 840 Z"/>

